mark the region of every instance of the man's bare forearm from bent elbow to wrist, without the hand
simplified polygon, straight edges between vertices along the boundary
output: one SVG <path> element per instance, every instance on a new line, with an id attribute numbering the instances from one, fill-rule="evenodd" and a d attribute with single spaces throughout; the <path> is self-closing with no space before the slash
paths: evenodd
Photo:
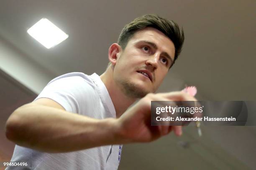
<path id="1" fill-rule="evenodd" d="M 20 107 L 7 121 L 7 137 L 44 152 L 70 152 L 118 144 L 116 119 L 98 120 L 53 107 Z"/>

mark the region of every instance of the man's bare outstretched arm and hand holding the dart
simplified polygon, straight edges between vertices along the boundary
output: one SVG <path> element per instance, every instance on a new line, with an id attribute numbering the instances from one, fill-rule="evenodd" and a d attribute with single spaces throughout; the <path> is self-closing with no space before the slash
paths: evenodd
<path id="1" fill-rule="evenodd" d="M 181 126 L 151 126 L 151 100 L 196 100 L 184 92 L 148 94 L 118 119 L 103 120 L 64 110 L 40 98 L 16 109 L 6 122 L 6 136 L 18 145 L 49 153 L 71 152 L 102 145 L 150 142 Z"/>

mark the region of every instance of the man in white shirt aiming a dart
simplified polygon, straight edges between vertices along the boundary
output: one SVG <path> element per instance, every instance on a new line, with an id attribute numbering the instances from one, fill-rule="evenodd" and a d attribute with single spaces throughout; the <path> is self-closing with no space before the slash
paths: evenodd
<path id="1" fill-rule="evenodd" d="M 33 102 L 13 112 L 6 123 L 7 138 L 17 144 L 11 161 L 35 170 L 114 170 L 121 144 L 150 142 L 171 130 L 181 135 L 181 126 L 151 126 L 150 119 L 151 100 L 195 100 L 184 92 L 154 94 L 183 41 L 173 21 L 136 18 L 110 46 L 102 75 L 56 77 Z"/>

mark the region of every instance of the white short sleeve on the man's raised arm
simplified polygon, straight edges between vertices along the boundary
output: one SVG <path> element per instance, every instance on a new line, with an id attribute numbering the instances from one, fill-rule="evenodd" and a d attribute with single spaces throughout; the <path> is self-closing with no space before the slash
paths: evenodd
<path id="1" fill-rule="evenodd" d="M 48 83 L 35 100 L 49 98 L 59 103 L 66 111 L 79 113 L 84 95 L 90 97 L 92 91 L 90 82 L 82 77 L 64 77 Z"/>

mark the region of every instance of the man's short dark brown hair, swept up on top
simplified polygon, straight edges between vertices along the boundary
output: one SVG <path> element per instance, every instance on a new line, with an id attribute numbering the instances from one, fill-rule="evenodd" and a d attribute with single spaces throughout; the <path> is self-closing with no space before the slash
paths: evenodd
<path id="1" fill-rule="evenodd" d="M 175 47 L 175 60 L 177 60 L 178 55 L 182 51 L 182 45 L 184 42 L 184 31 L 183 28 L 180 30 L 177 23 L 172 20 L 166 20 L 165 18 L 160 17 L 159 15 L 150 14 L 143 15 L 142 17 L 134 19 L 131 23 L 125 25 L 118 37 L 118 44 L 125 49 L 128 41 L 134 35 L 135 32 L 143 28 L 156 28 L 169 37 L 170 40 L 174 43 Z"/>

